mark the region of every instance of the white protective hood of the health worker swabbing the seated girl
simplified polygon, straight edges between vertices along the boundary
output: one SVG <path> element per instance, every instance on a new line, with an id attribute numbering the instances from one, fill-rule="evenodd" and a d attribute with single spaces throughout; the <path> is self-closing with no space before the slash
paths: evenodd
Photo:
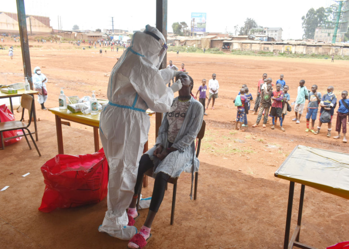
<path id="1" fill-rule="evenodd" d="M 159 37 L 160 40 L 154 36 Z M 144 32 L 136 32 L 133 35 L 132 50 L 159 68 L 167 51 L 165 37 L 157 28 L 147 25 Z"/>

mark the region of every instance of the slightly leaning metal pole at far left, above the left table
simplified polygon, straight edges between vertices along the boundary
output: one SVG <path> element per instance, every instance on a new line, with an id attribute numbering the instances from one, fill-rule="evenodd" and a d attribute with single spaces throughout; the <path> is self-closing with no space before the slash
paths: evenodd
<path id="1" fill-rule="evenodd" d="M 27 77 L 27 79 L 28 79 L 30 89 L 33 90 L 33 81 L 31 78 L 28 31 L 27 31 L 26 19 L 25 19 L 24 0 L 16 0 L 16 2 L 17 2 L 17 15 L 18 15 L 20 47 L 22 50 L 22 60 L 23 60 L 23 72 L 24 72 L 24 77 Z"/>

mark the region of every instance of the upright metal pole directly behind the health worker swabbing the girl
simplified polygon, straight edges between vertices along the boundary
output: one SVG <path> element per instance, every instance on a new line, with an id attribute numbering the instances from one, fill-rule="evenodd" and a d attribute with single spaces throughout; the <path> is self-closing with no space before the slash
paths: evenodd
<path id="1" fill-rule="evenodd" d="M 167 42 L 167 0 L 157 0 L 157 29 L 163 33 Z M 164 57 L 159 69 L 166 68 L 167 54 Z M 158 137 L 159 128 L 163 120 L 162 113 L 155 114 L 155 137 Z"/>

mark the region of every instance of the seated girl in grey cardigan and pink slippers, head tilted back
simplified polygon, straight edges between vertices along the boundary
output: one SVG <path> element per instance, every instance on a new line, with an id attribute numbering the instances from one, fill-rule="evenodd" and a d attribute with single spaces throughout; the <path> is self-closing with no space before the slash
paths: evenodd
<path id="1" fill-rule="evenodd" d="M 143 154 L 140 160 L 135 194 L 127 212 L 129 221 L 133 222 L 139 216 L 136 210 L 138 193 L 142 188 L 144 173 L 151 168 L 154 169 L 155 182 L 146 222 L 141 231 L 131 239 L 128 248 L 143 248 L 151 238 L 152 223 L 164 199 L 168 180 L 179 177 L 183 171 L 194 173 L 199 167 L 194 140 L 201 128 L 203 107 L 190 96 L 193 86 L 190 76 L 180 73 L 175 80 L 178 79 L 182 83 L 179 96 L 174 99 L 170 112 L 164 116 L 156 145 Z"/>

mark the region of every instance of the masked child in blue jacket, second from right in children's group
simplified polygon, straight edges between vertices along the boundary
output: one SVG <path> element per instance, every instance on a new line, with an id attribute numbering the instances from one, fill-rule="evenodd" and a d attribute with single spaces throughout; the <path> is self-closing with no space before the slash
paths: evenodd
<path id="1" fill-rule="evenodd" d="M 323 123 L 328 123 L 329 126 L 327 131 L 327 137 L 331 137 L 332 117 L 337 105 L 337 98 L 336 98 L 336 95 L 333 93 L 333 90 L 334 90 L 334 87 L 329 86 L 327 88 L 327 94 L 325 94 L 321 99 L 319 126 L 318 126 L 318 130 L 314 132 L 315 135 L 320 133 L 321 125 Z"/>

